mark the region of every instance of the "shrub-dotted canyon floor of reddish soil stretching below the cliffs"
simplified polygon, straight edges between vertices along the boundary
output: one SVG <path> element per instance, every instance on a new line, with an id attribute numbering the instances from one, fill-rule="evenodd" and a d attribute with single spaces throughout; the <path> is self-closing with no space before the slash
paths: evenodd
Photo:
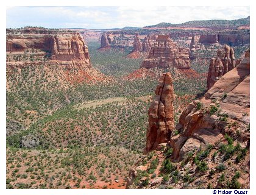
<path id="1" fill-rule="evenodd" d="M 127 58 L 132 48 L 99 50 L 99 41 L 87 45 L 94 68 L 90 75 L 40 65 L 26 66 L 20 72 L 12 69 L 7 75 L 7 188 L 126 188 L 134 165 L 152 165 L 158 175 L 167 147 L 148 156 L 143 153 L 148 109 L 158 79 L 166 71 L 172 75 L 175 125 L 190 102 L 206 92 L 207 59 L 191 60 L 191 69 L 148 70 L 140 69 L 143 56 Z M 34 52 L 27 56 L 37 61 Z M 92 82 L 84 82 L 85 77 Z M 216 151 L 208 149 L 205 158 Z M 192 155 L 186 159 L 190 164 L 193 161 Z M 153 172 L 149 173 L 151 180 Z M 190 180 L 191 186 L 200 186 L 184 172 L 177 176 L 182 179 L 172 182 L 174 187 Z M 143 173 L 141 178 L 149 177 Z M 219 179 L 215 173 L 211 177 Z M 133 183 L 134 188 L 145 185 L 141 178 Z"/>

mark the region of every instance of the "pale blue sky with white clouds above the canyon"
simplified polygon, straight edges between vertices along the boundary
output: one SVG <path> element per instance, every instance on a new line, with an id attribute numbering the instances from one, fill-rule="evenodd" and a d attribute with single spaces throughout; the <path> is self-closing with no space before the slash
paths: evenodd
<path id="1" fill-rule="evenodd" d="M 239 19 L 249 7 L 7 7 L 7 28 L 110 29 L 143 27 L 158 23 L 184 23 L 205 19 Z"/>

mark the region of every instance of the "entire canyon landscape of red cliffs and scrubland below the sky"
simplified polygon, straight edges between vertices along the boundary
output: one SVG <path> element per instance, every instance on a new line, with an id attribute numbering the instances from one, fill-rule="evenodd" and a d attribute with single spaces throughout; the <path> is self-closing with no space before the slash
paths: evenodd
<path id="1" fill-rule="evenodd" d="M 6 188 L 248 188 L 247 21 L 7 29 Z"/>

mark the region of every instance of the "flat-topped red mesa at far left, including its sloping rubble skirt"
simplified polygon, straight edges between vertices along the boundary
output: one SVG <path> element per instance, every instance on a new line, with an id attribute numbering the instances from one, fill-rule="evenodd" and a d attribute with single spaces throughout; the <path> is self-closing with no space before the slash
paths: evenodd
<path id="1" fill-rule="evenodd" d="M 7 74 L 19 74 L 20 69 L 34 66 L 51 69 L 58 74 L 54 79 L 61 83 L 108 82 L 110 79 L 91 66 L 84 38 L 74 30 L 8 29 L 6 39 Z"/>

